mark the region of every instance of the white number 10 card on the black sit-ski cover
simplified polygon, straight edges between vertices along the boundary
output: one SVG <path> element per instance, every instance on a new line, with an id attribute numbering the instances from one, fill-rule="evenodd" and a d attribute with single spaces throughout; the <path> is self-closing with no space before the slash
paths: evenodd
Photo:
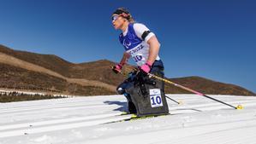
<path id="1" fill-rule="evenodd" d="M 163 107 L 160 89 L 149 89 L 151 107 Z"/>

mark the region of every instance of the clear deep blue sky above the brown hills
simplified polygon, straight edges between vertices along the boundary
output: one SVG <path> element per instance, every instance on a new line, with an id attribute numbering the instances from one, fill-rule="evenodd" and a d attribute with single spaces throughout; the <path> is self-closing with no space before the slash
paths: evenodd
<path id="1" fill-rule="evenodd" d="M 124 49 L 110 14 L 125 7 L 157 35 L 166 77 L 199 76 L 256 92 L 255 1 L 0 2 L 0 44 L 12 49 L 58 55 L 74 63 L 119 61 Z"/>

